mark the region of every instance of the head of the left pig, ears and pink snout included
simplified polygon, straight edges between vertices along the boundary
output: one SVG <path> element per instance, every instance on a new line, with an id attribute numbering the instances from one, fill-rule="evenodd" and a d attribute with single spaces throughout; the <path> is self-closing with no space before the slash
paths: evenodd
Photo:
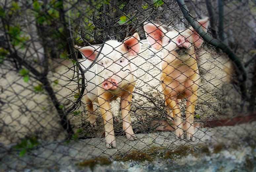
<path id="1" fill-rule="evenodd" d="M 109 40 L 97 58 L 95 75 L 96 85 L 104 90 L 117 93 L 128 84 L 135 82 L 135 65 L 130 62 L 130 56 L 135 56 L 140 50 L 139 35 L 135 33 L 123 44 Z M 129 46 L 132 46 L 129 47 Z M 84 47 L 79 49 L 88 59 L 93 61 L 98 55 L 99 47 Z"/>

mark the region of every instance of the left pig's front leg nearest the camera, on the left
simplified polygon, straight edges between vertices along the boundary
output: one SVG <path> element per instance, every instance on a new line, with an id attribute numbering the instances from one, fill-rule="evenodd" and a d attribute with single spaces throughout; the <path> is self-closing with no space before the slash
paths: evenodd
<path id="1" fill-rule="evenodd" d="M 106 101 L 108 100 L 107 97 L 105 97 L 104 99 L 101 97 L 104 97 L 104 94 L 98 97 L 98 101 L 99 101 L 100 111 L 101 111 L 103 121 L 104 121 L 104 126 L 105 126 L 106 146 L 107 148 L 111 148 L 111 146 L 115 148 L 116 139 L 115 139 L 113 115 L 111 113 L 110 103 Z"/>

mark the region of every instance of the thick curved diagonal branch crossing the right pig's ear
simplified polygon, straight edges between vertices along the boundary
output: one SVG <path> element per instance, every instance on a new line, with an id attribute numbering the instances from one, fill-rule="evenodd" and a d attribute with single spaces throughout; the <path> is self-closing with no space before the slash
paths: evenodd
<path id="1" fill-rule="evenodd" d="M 240 76 L 240 75 L 242 76 L 241 84 L 240 84 L 242 96 L 246 100 L 248 100 L 247 86 L 246 86 L 247 74 L 246 74 L 246 71 L 245 71 L 245 68 L 244 68 L 242 62 L 238 59 L 238 57 L 231 50 L 230 47 L 228 47 L 226 44 L 219 41 L 218 39 L 214 39 L 211 36 L 209 36 L 208 34 L 206 34 L 206 32 L 199 26 L 198 22 L 190 15 L 190 12 L 189 12 L 184 0 L 176 0 L 176 1 L 178 2 L 180 10 L 183 13 L 184 17 L 186 18 L 186 20 L 195 29 L 195 31 L 201 36 L 201 38 L 208 44 L 210 44 L 214 47 L 220 48 L 235 63 L 235 65 L 237 66 L 236 74 L 238 76 Z"/>

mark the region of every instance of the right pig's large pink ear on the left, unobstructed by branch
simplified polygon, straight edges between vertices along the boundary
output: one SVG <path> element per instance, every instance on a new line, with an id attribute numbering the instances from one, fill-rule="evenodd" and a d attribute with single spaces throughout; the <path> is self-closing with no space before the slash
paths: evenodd
<path id="1" fill-rule="evenodd" d="M 154 49 L 160 50 L 164 46 L 163 37 L 167 31 L 163 27 L 153 23 L 144 23 L 143 27 L 150 45 Z"/>

